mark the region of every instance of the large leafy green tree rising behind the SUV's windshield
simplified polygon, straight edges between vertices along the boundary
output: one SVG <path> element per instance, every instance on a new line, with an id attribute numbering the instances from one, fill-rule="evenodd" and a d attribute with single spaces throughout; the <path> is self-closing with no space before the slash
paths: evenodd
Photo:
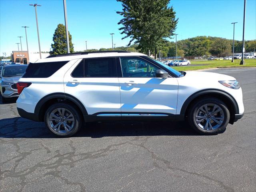
<path id="1" fill-rule="evenodd" d="M 138 44 L 136 49 L 148 54 L 153 50 L 155 58 L 158 48 L 162 46 L 163 38 L 174 35 L 178 23 L 173 7 L 168 7 L 170 0 L 117 0 L 122 2 L 122 12 L 117 11 L 124 18 L 118 22 L 123 27 L 122 39 L 130 37 L 128 44 Z"/>

